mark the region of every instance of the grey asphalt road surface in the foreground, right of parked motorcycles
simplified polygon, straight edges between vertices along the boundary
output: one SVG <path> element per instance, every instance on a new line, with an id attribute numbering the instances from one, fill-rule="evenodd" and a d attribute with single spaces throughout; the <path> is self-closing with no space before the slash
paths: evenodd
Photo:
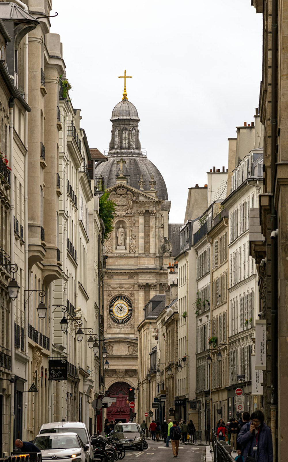
<path id="1" fill-rule="evenodd" d="M 154 461 L 165 460 L 172 461 L 173 452 L 171 443 L 169 443 L 169 448 L 164 446 L 162 441 L 151 441 L 147 439 L 148 449 L 144 451 L 126 451 L 123 462 L 130 462 L 131 458 L 133 460 L 139 459 L 139 462 L 151 462 L 151 459 Z M 191 444 L 179 444 L 179 452 L 177 460 L 187 461 L 187 462 L 202 462 L 205 461 L 206 447 L 205 446 L 194 446 Z M 165 457 L 165 459 L 164 459 Z"/>

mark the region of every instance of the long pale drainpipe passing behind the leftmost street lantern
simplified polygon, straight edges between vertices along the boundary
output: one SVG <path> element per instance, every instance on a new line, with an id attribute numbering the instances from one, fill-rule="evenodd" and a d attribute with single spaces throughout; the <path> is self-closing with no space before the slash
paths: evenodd
<path id="1" fill-rule="evenodd" d="M 11 265 L 14 265 L 14 169 L 13 169 L 13 108 L 14 98 L 11 97 L 9 101 L 9 162 L 11 168 L 11 188 L 10 188 L 10 260 Z M 15 419 L 14 419 L 14 406 L 15 406 L 15 345 L 14 345 L 14 322 L 15 322 L 15 301 L 11 300 L 11 326 L 10 326 L 10 348 L 11 348 L 11 423 L 10 423 L 10 451 L 13 451 L 14 433 L 15 433 Z"/>

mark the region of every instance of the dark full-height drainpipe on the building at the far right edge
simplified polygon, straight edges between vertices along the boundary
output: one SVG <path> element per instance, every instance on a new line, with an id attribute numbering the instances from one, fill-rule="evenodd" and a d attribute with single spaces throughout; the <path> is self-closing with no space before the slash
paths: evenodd
<path id="1" fill-rule="evenodd" d="M 276 144 L 277 144 L 277 12 L 278 0 L 272 0 L 271 21 L 271 231 L 277 229 L 275 209 Z M 278 248 L 277 238 L 271 239 L 271 428 L 273 452 L 277 458 L 277 402 L 278 402 Z"/>

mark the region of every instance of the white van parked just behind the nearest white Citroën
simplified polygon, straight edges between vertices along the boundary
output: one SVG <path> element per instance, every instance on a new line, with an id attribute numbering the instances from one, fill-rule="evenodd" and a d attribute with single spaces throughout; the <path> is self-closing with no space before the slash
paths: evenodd
<path id="1" fill-rule="evenodd" d="M 49 422 L 48 424 L 43 424 L 40 427 L 39 434 L 42 433 L 77 433 L 78 437 L 81 439 L 83 444 L 88 445 L 88 455 L 90 461 L 93 461 L 94 451 L 92 447 L 92 440 L 88 433 L 87 427 L 84 422 Z"/>

